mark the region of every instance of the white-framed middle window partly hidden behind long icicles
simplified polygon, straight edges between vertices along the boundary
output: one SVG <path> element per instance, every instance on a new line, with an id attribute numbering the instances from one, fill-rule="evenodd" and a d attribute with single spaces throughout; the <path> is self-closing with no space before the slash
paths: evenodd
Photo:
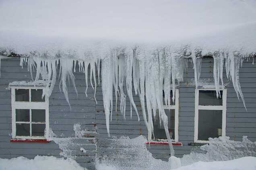
<path id="1" fill-rule="evenodd" d="M 171 97 L 172 97 L 172 90 L 171 90 Z M 164 101 L 165 94 L 163 93 L 163 109 L 165 109 L 165 113 L 168 117 L 168 128 L 169 128 L 169 134 L 171 139 L 173 139 L 175 142 L 178 142 L 179 136 L 178 136 L 178 127 L 179 127 L 179 89 L 175 89 L 175 100 L 174 102 L 172 99 L 171 105 L 166 105 Z M 156 119 L 153 119 L 154 123 L 154 135 L 155 140 L 167 140 L 165 129 L 163 127 L 163 123 L 159 122 L 159 115 L 157 110 Z"/>

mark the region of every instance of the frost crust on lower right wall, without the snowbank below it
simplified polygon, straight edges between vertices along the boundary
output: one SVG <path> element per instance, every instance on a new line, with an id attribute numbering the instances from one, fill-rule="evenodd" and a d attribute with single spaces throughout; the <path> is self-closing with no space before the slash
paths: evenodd
<path id="1" fill-rule="evenodd" d="M 256 156 L 256 142 L 251 142 L 246 136 L 242 142 L 229 140 L 229 137 L 210 138 L 209 144 L 200 146 L 198 150 L 185 154 L 182 158 L 174 156 L 169 161 L 153 158 L 147 149 L 143 136 L 134 139 L 121 137 L 111 142 L 109 156 L 97 160 L 96 168 L 116 170 L 170 170 L 195 162 L 226 161 L 246 156 Z M 150 148 L 151 146 L 149 146 Z"/>

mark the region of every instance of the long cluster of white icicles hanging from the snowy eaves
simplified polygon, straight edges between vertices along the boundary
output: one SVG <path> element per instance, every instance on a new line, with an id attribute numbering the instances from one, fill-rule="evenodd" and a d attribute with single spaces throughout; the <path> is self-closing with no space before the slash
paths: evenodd
<path id="1" fill-rule="evenodd" d="M 170 91 L 172 90 L 172 94 L 175 94 L 175 87 L 183 81 L 184 69 L 186 69 L 189 61 L 192 61 L 193 63 L 194 79 L 196 88 L 198 87 L 202 57 L 198 57 L 196 54 L 196 51 L 192 51 L 190 53 L 185 51 L 171 52 L 167 49 L 155 50 L 153 53 L 146 54 L 142 53 L 136 48 L 132 49 L 130 53 L 127 53 L 127 51 L 124 49 L 115 49 L 110 51 L 107 55 L 98 58 L 91 57 L 90 59 L 78 60 L 71 57 L 61 56 L 55 59 L 33 56 L 28 58 L 21 58 L 20 64 L 21 66 L 23 66 L 23 63 L 27 64 L 28 71 L 31 73 L 31 77 L 33 77 L 33 70 L 36 70 L 34 81 L 39 80 L 40 74 L 41 77 L 47 81 L 48 89 L 43 95 L 51 95 L 56 83 L 56 79 L 59 78 L 60 91 L 62 89 L 64 92 L 68 104 L 68 90 L 66 86 L 67 79 L 71 80 L 76 91 L 73 71 L 79 71 L 85 74 L 85 95 L 87 96 L 88 66 L 90 65 L 91 86 L 93 87 L 92 81 L 94 81 L 93 89 L 96 93 L 97 83 L 99 84 L 100 82 L 99 74 L 101 64 L 101 86 L 108 135 L 109 121 L 111 121 L 114 105 L 113 89 L 116 97 L 115 109 L 117 110 L 117 102 L 119 100 L 120 111 L 122 115 L 124 115 L 125 119 L 126 98 L 128 97 L 131 103 L 130 114 L 132 115 L 133 107 L 134 111 L 138 115 L 138 121 L 140 120 L 136 105 L 133 100 L 132 89 L 134 89 L 135 94 L 140 98 L 143 119 L 148 129 L 148 140 L 151 140 L 152 135 L 154 134 L 153 117 L 157 116 L 158 109 L 159 121 L 160 123 L 163 123 L 165 133 L 169 141 L 171 155 L 173 156 L 174 150 L 171 145 L 171 138 L 168 131 L 168 119 L 163 108 L 163 103 L 165 105 L 170 105 L 170 100 L 175 99 L 175 95 L 170 96 Z M 241 97 L 244 103 L 244 97 L 239 84 L 239 67 L 242 63 L 243 57 L 237 55 L 236 53 L 224 52 L 216 52 L 210 55 L 214 59 L 213 76 L 217 97 L 219 97 L 220 94 L 219 90 L 224 88 L 223 70 L 225 69 L 227 78 L 231 79 L 233 83 L 237 97 Z M 77 64 L 79 70 L 75 70 Z M 59 75 L 57 75 L 57 72 L 59 72 Z M 96 79 L 96 73 L 98 74 L 98 82 Z M 165 94 L 164 99 L 163 91 Z"/>

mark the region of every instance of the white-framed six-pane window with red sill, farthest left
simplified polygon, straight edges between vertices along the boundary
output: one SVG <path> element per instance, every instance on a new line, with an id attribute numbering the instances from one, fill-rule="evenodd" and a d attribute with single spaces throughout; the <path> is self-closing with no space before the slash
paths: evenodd
<path id="1" fill-rule="evenodd" d="M 49 132 L 49 100 L 44 87 L 10 87 L 12 93 L 12 138 L 45 139 Z M 45 133 L 46 132 L 46 133 Z"/>

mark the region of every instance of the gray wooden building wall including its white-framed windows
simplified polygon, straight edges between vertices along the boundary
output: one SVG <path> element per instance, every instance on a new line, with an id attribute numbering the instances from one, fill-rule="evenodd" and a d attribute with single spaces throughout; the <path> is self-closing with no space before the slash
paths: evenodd
<path id="1" fill-rule="evenodd" d="M 140 100 L 135 94 L 134 102 L 141 121 L 137 120 L 134 110 L 130 117 L 130 101 L 127 99 L 126 120 L 119 109 L 114 111 L 110 122 L 111 138 L 108 138 L 101 86 L 97 87 L 96 104 L 94 90 L 90 86 L 88 97 L 85 95 L 85 75 L 75 72 L 78 96 L 72 85 L 68 85 L 70 111 L 63 93 L 59 90 L 58 80 L 49 99 L 41 99 L 43 87 L 40 86 L 16 84 L 9 87 L 9 83 L 13 81 L 31 81 L 27 67 L 22 68 L 19 63 L 19 58 L 1 59 L 0 158 L 34 158 L 36 155 L 61 157 L 69 154 L 81 166 L 94 169 L 95 157 L 109 155 L 111 152 L 108 147 L 113 136 L 147 136 Z M 247 111 L 226 77 L 226 87 L 221 89 L 219 99 L 216 98 L 214 87 L 207 85 L 207 82 L 213 80 L 213 58 L 202 59 L 200 79 L 206 85 L 202 84 L 199 89 L 193 84 L 193 65 L 188 64 L 188 69 L 184 72 L 184 82 L 175 92 L 173 107 L 170 110 L 165 108 L 170 122 L 169 133 L 174 140 L 175 156 L 189 154 L 194 147 L 207 143 L 209 137 L 229 136 L 231 140 L 241 141 L 243 136 L 248 136 L 252 142 L 256 141 L 256 65 L 252 64 L 252 60 L 244 61 L 239 77 Z M 114 94 L 113 99 L 115 102 Z M 23 101 L 27 102 L 23 104 Z M 82 136 L 74 130 L 74 124 L 79 124 L 81 130 L 87 129 Z M 47 133 L 51 133 L 51 129 L 57 136 L 54 138 L 59 140 L 45 140 L 42 135 L 45 129 L 48 130 Z M 149 151 L 157 159 L 168 160 L 169 147 L 163 127 L 155 123 L 154 132 L 155 138 L 161 140 L 151 144 Z M 65 144 L 61 138 L 66 138 Z"/>

